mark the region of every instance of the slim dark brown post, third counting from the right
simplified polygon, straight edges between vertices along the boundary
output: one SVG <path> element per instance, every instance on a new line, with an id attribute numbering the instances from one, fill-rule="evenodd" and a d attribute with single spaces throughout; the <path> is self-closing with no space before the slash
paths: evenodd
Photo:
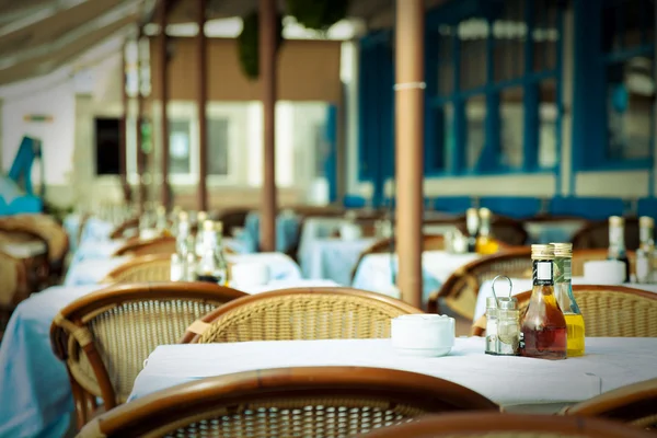
<path id="1" fill-rule="evenodd" d="M 208 59 L 207 59 L 207 39 L 205 35 L 206 23 L 206 0 L 198 0 L 198 210 L 208 210 L 208 127 L 207 127 L 207 102 L 208 102 Z"/>

